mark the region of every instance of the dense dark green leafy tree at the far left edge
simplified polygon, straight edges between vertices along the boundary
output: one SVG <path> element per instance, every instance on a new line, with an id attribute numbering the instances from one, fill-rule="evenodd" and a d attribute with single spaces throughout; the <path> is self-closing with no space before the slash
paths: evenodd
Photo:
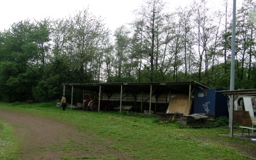
<path id="1" fill-rule="evenodd" d="M 42 34 L 45 33 L 45 34 Z M 13 23 L 3 33 L 4 55 L 0 61 L 0 93 L 7 101 L 32 98 L 32 88 L 41 78 L 42 44 L 49 40 L 48 28 L 37 26 L 29 20 Z M 42 70 L 42 69 L 41 69 Z"/>

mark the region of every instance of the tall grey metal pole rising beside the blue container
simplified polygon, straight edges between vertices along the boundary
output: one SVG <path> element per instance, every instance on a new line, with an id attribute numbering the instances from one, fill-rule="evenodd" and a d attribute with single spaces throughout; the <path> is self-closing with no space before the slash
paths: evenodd
<path id="1" fill-rule="evenodd" d="M 235 89 L 235 51 L 236 51 L 236 0 L 233 0 L 230 90 Z M 230 102 L 229 102 L 230 137 L 233 137 L 233 110 L 234 110 L 233 104 L 234 104 L 234 96 L 231 96 Z"/>

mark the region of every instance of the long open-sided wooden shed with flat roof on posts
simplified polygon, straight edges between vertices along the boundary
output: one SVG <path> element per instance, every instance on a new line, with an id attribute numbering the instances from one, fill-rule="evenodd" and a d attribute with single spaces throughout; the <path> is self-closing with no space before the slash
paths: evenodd
<path id="1" fill-rule="evenodd" d="M 72 87 L 71 108 L 73 105 L 73 88 L 85 90 L 86 93 L 91 92 L 95 99 L 99 101 L 109 100 L 115 101 L 122 110 L 122 103 L 133 102 L 141 103 L 136 108 L 142 112 L 142 103 L 149 103 L 149 114 L 151 111 L 156 111 L 157 104 L 168 104 L 169 101 L 177 95 L 187 95 L 187 104 L 191 104 L 194 92 L 196 89 L 207 89 L 198 82 L 123 82 L 123 83 L 87 83 L 87 84 L 70 84 L 64 83 L 65 87 Z M 99 103 L 100 104 L 100 103 Z M 152 106 L 152 104 L 154 106 Z M 116 106 L 116 107 L 118 107 Z M 191 107 L 185 106 L 189 109 Z M 100 107 L 98 107 L 100 109 Z"/>

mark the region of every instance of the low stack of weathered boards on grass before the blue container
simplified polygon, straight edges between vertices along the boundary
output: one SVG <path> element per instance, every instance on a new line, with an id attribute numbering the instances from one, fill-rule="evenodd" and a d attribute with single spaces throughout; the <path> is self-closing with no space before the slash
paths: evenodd
<path id="1" fill-rule="evenodd" d="M 182 117 L 177 118 L 177 122 L 187 125 L 192 123 L 204 123 L 208 119 L 207 116 L 201 114 L 191 114 L 191 115 L 183 115 Z"/>

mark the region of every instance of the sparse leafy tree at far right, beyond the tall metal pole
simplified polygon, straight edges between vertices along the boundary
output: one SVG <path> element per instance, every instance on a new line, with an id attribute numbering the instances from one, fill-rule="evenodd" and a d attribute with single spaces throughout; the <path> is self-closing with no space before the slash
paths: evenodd
<path id="1" fill-rule="evenodd" d="M 237 12 L 236 20 L 236 66 L 237 78 L 243 80 L 246 66 L 248 66 L 248 79 L 251 75 L 252 53 L 256 44 L 256 23 L 250 19 L 255 12 L 256 3 L 252 0 L 245 0 L 243 7 Z"/>

